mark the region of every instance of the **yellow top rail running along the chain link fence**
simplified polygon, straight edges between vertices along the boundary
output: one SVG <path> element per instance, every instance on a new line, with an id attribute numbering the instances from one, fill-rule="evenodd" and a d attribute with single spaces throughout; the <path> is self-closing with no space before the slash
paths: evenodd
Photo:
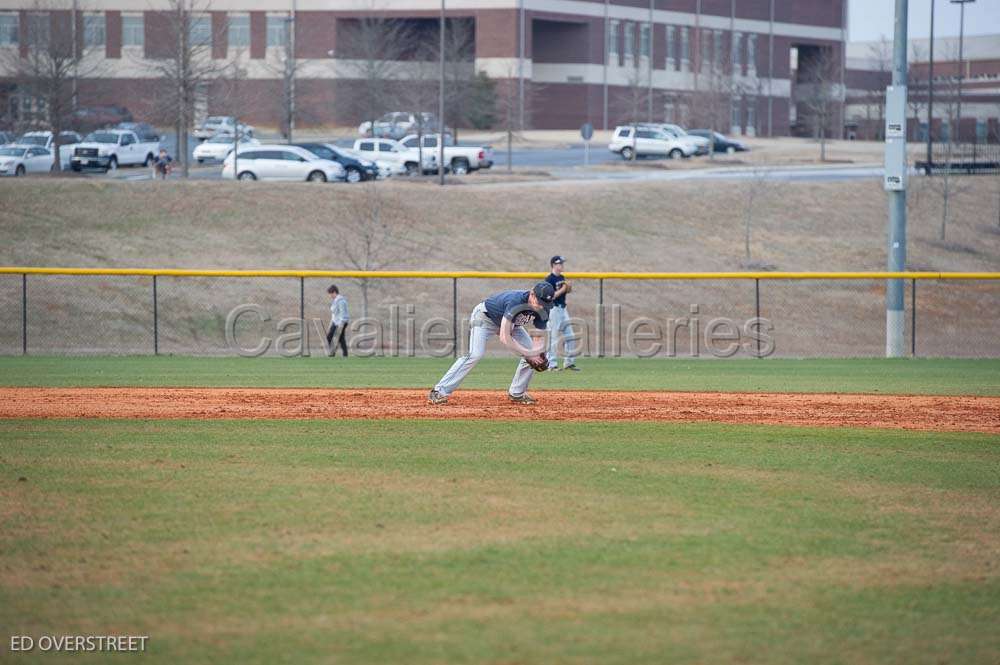
<path id="1" fill-rule="evenodd" d="M 138 275 L 159 277 L 344 277 L 369 279 L 544 279 L 544 272 L 478 270 L 211 270 L 0 266 L 0 275 Z M 570 279 L 1000 279 L 1000 272 L 567 272 Z"/>

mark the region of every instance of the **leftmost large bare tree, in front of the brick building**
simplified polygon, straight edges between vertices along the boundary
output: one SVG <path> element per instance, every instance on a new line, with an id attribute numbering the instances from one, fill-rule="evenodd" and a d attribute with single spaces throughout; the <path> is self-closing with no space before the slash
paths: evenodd
<path id="1" fill-rule="evenodd" d="M 2 49 L 0 67 L 4 77 L 14 82 L 17 95 L 30 100 L 36 111 L 22 118 L 25 127 L 52 132 L 52 170 L 58 171 L 62 167 L 60 133 L 71 124 L 77 81 L 100 74 L 96 52 L 104 44 L 103 40 L 91 44 L 86 33 L 77 34 L 73 27 L 77 17 L 64 7 L 36 1 L 23 16 L 27 18 L 21 30 L 25 43 Z"/>

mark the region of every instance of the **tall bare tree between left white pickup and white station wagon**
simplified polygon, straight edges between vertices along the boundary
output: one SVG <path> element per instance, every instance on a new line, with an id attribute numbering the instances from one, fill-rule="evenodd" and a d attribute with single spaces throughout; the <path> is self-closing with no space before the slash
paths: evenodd
<path id="1" fill-rule="evenodd" d="M 163 81 L 160 102 L 168 110 L 177 132 L 177 159 L 181 175 L 188 177 L 188 136 L 195 110 L 209 86 L 231 75 L 233 65 L 212 58 L 213 27 L 207 0 L 165 0 L 163 33 L 170 49 L 163 57 L 144 60 L 145 66 Z M 216 26 L 226 30 L 225 25 Z"/>

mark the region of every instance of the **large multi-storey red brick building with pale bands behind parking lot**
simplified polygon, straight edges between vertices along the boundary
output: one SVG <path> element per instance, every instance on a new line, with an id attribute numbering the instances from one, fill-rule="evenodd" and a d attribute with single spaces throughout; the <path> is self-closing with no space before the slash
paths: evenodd
<path id="1" fill-rule="evenodd" d="M 28 26 L 48 22 L 53 34 L 89 49 L 94 64 L 76 85 L 75 104 L 121 105 L 137 118 L 163 122 L 157 115 L 163 81 L 151 63 L 175 42 L 167 0 L 80 0 L 85 11 L 75 20 L 73 6 L 70 0 L 0 0 L 0 52 L 23 56 Z M 200 13 L 191 19 L 191 40 L 210 44 L 211 58 L 232 61 L 238 72 L 235 83 L 203 86 L 199 113 L 238 112 L 258 125 L 279 125 L 285 86 L 279 70 L 291 49 L 298 124 L 351 125 L 361 118 L 352 103 L 357 57 L 347 42 L 356 41 L 350 36 L 359 22 L 376 8 L 378 16 L 411 24 L 410 34 L 433 45 L 440 2 L 204 0 L 195 6 Z M 836 107 L 826 131 L 839 135 L 843 124 L 846 0 L 448 0 L 447 16 L 449 25 L 473 36 L 462 55 L 470 70 L 516 89 L 528 127 L 613 127 L 638 114 L 737 134 L 785 135 L 793 126 L 813 133 L 818 128 L 807 117 L 808 97 L 816 78 L 807 69 L 818 63 Z M 421 53 L 427 50 L 412 48 L 401 58 L 419 61 Z M 406 71 L 394 74 L 401 88 Z M 37 111 L 9 72 L 0 71 L 0 85 L 8 123 Z"/>

